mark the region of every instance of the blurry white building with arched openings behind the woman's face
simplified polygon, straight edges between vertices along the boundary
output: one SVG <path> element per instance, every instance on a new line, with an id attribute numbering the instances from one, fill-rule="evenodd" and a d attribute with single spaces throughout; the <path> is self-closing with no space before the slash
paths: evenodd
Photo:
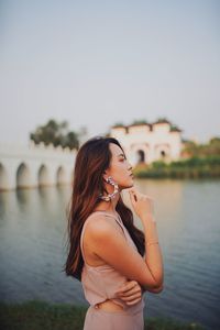
<path id="1" fill-rule="evenodd" d="M 119 140 L 132 166 L 158 160 L 179 160 L 183 147 L 180 133 L 182 130 L 167 120 L 116 125 L 110 130 L 110 136 Z"/>

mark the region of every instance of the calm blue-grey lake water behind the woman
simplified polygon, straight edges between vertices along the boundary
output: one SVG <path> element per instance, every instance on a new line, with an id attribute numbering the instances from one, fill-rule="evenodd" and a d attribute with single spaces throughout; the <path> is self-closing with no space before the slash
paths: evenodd
<path id="1" fill-rule="evenodd" d="M 164 290 L 145 294 L 145 316 L 220 329 L 220 180 L 147 179 L 135 186 L 155 201 L 165 271 Z M 62 272 L 69 197 L 70 187 L 0 194 L 0 300 L 88 306 L 80 283 Z"/>

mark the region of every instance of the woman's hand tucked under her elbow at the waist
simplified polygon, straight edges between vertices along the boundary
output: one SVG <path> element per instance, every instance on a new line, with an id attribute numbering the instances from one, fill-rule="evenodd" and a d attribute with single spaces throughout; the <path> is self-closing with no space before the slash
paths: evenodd
<path id="1" fill-rule="evenodd" d="M 118 290 L 117 296 L 127 305 L 135 305 L 142 298 L 142 287 L 136 280 L 128 280 Z"/>

